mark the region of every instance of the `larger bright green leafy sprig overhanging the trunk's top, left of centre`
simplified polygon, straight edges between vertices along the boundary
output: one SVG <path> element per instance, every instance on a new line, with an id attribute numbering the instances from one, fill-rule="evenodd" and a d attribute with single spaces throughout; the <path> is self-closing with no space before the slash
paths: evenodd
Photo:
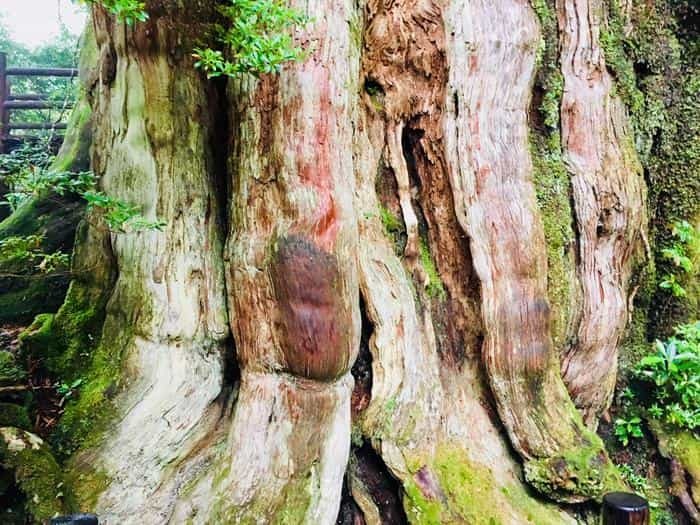
<path id="1" fill-rule="evenodd" d="M 289 8 L 281 0 L 229 0 L 219 8 L 227 20 L 217 25 L 217 43 L 225 49 L 197 48 L 196 67 L 209 78 L 255 76 L 276 73 L 285 62 L 301 60 L 305 52 L 292 37 L 295 27 L 303 27 L 308 18 Z"/>

